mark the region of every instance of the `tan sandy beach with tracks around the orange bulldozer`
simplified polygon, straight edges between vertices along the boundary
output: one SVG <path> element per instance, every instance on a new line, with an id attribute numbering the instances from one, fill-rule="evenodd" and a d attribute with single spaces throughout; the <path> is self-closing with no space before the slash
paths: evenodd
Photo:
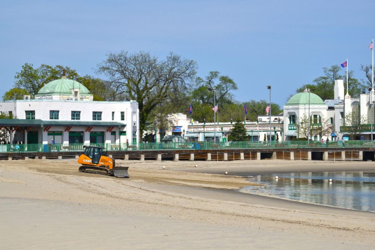
<path id="1" fill-rule="evenodd" d="M 80 173 L 72 159 L 1 161 L 1 249 L 375 246 L 375 213 L 234 191 L 252 185 L 237 174 L 375 170 L 374 162 L 116 163 L 130 178 Z"/>

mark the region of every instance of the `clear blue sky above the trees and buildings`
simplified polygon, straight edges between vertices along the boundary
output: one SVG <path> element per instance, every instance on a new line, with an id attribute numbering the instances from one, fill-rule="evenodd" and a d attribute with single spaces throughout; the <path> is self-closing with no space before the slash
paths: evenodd
<path id="1" fill-rule="evenodd" d="M 372 63 L 374 1 L 2 1 L 0 99 L 25 63 L 95 72 L 110 52 L 169 52 L 198 74 L 232 78 L 240 102 L 285 104 L 296 89 L 347 60 L 354 77 Z M 346 74 L 346 68 L 340 72 Z"/>

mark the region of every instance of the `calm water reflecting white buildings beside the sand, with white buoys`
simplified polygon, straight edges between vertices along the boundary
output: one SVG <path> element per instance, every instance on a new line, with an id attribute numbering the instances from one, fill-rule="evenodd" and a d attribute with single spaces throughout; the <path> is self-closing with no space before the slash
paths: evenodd
<path id="1" fill-rule="evenodd" d="M 374 171 L 289 173 L 254 178 L 264 186 L 248 186 L 240 192 L 375 211 Z"/>

